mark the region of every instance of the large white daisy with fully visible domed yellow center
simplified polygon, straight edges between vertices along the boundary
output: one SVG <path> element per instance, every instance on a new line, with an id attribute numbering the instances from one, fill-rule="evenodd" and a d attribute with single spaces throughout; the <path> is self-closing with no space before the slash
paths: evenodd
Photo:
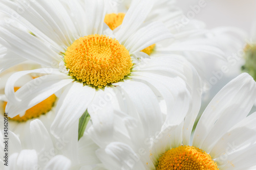
<path id="1" fill-rule="evenodd" d="M 135 110 L 142 105 L 158 105 L 160 100 L 169 103 L 172 93 L 181 87 L 200 98 L 194 90 L 194 86 L 200 87 L 197 72 L 182 56 L 138 59 L 145 54 L 140 52 L 144 48 L 173 37 L 161 22 L 144 22 L 152 1 L 134 2 L 114 31 L 104 23 L 106 1 L 84 1 L 84 7 L 78 1 L 67 3 L 69 6 L 57 0 L 1 2 L 0 9 L 12 16 L 10 20 L 20 22 L 35 36 L 10 21 L 1 25 L 0 43 L 44 66 L 17 72 L 8 79 L 5 93 L 10 117 L 60 91 L 51 127 L 51 132 L 60 136 L 86 110 L 92 115 L 109 101 L 120 107 L 124 96 Z M 14 92 L 15 82 L 32 72 L 46 76 Z"/>

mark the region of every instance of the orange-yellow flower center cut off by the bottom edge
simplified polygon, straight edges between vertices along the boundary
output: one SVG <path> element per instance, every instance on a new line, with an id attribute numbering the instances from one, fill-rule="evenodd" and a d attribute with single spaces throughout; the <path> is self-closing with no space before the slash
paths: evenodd
<path id="1" fill-rule="evenodd" d="M 190 146 L 180 146 L 165 153 L 158 160 L 157 170 L 217 170 L 217 163 L 205 151 Z"/>

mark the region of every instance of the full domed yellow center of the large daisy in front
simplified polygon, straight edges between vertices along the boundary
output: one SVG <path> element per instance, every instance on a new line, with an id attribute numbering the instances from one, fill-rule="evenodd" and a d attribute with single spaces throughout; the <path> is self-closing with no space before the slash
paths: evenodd
<path id="1" fill-rule="evenodd" d="M 75 40 L 64 58 L 70 76 L 97 88 L 122 80 L 133 66 L 129 51 L 123 45 L 97 34 Z"/>

